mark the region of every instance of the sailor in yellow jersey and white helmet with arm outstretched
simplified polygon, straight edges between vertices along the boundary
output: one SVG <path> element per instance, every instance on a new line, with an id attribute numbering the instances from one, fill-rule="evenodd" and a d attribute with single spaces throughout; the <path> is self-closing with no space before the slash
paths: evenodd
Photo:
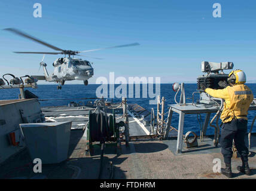
<path id="1" fill-rule="evenodd" d="M 246 175 L 250 174 L 248 165 L 248 148 L 245 146 L 245 135 L 247 133 L 248 109 L 254 96 L 250 88 L 245 85 L 246 75 L 242 70 L 233 70 L 229 73 L 227 87 L 222 90 L 211 88 L 203 89 L 212 97 L 223 98 L 224 107 L 221 113 L 221 153 L 224 157 L 225 168 L 221 168 L 221 173 L 227 177 L 232 177 L 231 158 L 233 156 L 233 140 L 237 152 L 242 159 L 242 166 L 237 170 Z"/>

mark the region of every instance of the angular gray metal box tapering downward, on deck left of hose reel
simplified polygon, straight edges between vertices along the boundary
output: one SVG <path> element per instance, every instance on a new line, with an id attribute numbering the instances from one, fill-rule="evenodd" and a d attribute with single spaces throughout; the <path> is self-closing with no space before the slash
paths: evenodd
<path id="1" fill-rule="evenodd" d="M 20 124 L 31 159 L 54 164 L 68 158 L 72 122 Z"/>

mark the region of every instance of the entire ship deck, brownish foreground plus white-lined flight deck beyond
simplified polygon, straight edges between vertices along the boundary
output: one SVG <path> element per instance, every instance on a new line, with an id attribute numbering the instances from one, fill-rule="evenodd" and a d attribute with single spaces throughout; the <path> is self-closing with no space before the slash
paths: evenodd
<path id="1" fill-rule="evenodd" d="M 38 175 L 33 172 L 28 149 L 23 149 L 0 165 L 0 178 L 97 178 L 100 149 L 95 150 L 95 155 L 86 156 L 87 131 L 83 131 L 89 109 L 43 107 L 47 120 L 72 121 L 68 160 L 60 164 L 42 165 L 42 173 Z M 121 116 L 121 111 L 116 113 L 117 118 Z M 141 119 L 129 115 L 129 130 L 134 138 L 129 142 L 129 147 L 125 146 L 125 142 L 121 143 L 121 155 L 117 155 L 115 149 L 106 147 L 101 178 L 227 178 L 212 170 L 215 158 L 220 158 L 224 165 L 220 147 L 214 146 L 212 137 L 205 137 L 203 142 L 198 139 L 199 146 L 196 148 L 186 149 L 183 144 L 183 152 L 178 155 L 175 152 L 175 137 L 166 140 L 150 138 L 150 126 L 144 126 Z M 252 134 L 251 141 L 249 165 L 252 175 L 238 172 L 236 166 L 240 165 L 240 158 L 233 158 L 234 178 L 256 178 L 256 134 Z"/>

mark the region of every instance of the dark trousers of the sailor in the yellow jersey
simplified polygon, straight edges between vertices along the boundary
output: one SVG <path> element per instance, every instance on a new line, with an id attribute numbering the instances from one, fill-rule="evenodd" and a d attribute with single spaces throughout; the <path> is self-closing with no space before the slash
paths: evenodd
<path id="1" fill-rule="evenodd" d="M 231 163 L 233 156 L 232 146 L 233 140 L 237 152 L 244 161 L 248 161 L 248 148 L 245 146 L 245 135 L 247 133 L 247 123 L 245 119 L 233 119 L 224 123 L 221 130 L 221 153 L 224 156 L 225 163 Z"/>

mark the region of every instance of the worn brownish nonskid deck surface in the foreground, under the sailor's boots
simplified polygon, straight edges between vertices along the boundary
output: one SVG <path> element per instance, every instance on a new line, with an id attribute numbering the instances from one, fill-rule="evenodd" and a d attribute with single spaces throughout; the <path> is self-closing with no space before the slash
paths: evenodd
<path id="1" fill-rule="evenodd" d="M 252 137 L 256 140 L 256 135 Z M 122 143 L 122 153 L 119 156 L 116 155 L 115 149 L 106 148 L 101 178 L 111 178 L 111 169 L 114 171 L 112 178 L 226 178 L 212 170 L 215 158 L 220 158 L 223 164 L 220 148 L 203 150 L 202 147 L 201 151 L 190 152 L 192 155 L 189 152 L 176 155 L 172 152 L 175 145 L 175 139 L 141 139 L 131 141 L 129 147 Z M 0 178 L 97 178 L 100 150 L 95 150 L 95 155 L 90 157 L 85 155 L 85 150 L 84 132 L 71 131 L 67 161 L 42 165 L 42 173 L 36 174 L 33 172 L 28 150 L 25 149 L 0 165 Z M 236 170 L 236 166 L 240 165 L 240 158 L 232 159 L 234 178 L 256 178 L 255 152 L 256 145 L 252 144 L 249 155 L 251 176 L 242 175 Z"/>

